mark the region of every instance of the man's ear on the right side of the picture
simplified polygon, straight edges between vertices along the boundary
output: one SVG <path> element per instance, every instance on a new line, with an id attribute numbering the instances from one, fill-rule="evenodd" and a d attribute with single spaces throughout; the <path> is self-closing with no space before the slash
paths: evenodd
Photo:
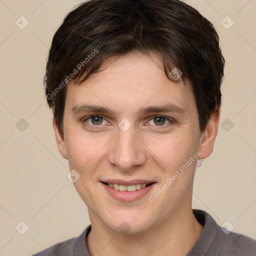
<path id="1" fill-rule="evenodd" d="M 201 155 L 198 159 L 203 159 L 209 156 L 213 150 L 213 145 L 218 132 L 218 122 L 220 116 L 220 107 L 217 107 L 210 115 L 205 130 L 201 133 L 199 142 L 199 151 Z"/>

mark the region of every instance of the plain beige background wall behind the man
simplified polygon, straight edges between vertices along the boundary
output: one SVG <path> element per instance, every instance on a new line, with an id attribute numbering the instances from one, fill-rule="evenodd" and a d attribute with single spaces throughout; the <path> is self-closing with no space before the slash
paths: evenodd
<path id="1" fill-rule="evenodd" d="M 31 255 L 89 224 L 66 178 L 42 85 L 52 36 L 79 2 L 0 0 L 0 255 Z M 226 60 L 220 124 L 226 118 L 234 124 L 227 131 L 219 125 L 213 153 L 196 170 L 193 208 L 256 239 L 256 0 L 186 2 L 219 33 Z M 24 29 L 15 24 L 21 15 L 29 21 Z M 229 29 L 220 23 L 226 15 L 234 21 Z M 23 131 L 16 126 L 21 118 L 28 123 Z M 29 226 L 23 235 L 15 229 L 21 220 Z"/>

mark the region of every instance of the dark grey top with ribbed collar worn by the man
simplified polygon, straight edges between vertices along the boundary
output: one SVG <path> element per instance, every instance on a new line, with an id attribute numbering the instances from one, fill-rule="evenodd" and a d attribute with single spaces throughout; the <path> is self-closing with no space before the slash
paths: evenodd
<path id="1" fill-rule="evenodd" d="M 193 209 L 198 222 L 204 227 L 199 240 L 187 256 L 256 256 L 256 240 L 243 234 L 226 234 L 205 211 Z M 88 252 L 86 236 L 91 225 L 76 238 L 59 242 L 33 256 L 93 256 Z"/>

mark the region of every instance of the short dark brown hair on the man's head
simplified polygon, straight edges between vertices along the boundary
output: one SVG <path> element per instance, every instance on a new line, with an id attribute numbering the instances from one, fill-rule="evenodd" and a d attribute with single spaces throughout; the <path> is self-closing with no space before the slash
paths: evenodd
<path id="1" fill-rule="evenodd" d="M 221 104 L 225 62 L 211 22 L 180 0 L 89 0 L 67 14 L 49 50 L 45 94 L 62 133 L 68 81 L 83 82 L 107 57 L 132 50 L 159 53 L 174 82 L 171 69 L 182 71 L 192 83 L 199 128 L 205 129 Z"/>

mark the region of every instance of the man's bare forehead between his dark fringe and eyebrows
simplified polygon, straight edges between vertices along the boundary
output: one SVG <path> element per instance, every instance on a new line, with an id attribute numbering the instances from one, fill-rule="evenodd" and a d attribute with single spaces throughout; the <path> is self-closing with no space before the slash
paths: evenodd
<path id="1" fill-rule="evenodd" d="M 106 59 L 100 71 L 80 85 L 70 81 L 66 106 L 71 109 L 84 103 L 115 110 L 169 103 L 183 109 L 195 106 L 189 81 L 170 81 L 158 55 L 149 57 L 139 52 Z"/>

